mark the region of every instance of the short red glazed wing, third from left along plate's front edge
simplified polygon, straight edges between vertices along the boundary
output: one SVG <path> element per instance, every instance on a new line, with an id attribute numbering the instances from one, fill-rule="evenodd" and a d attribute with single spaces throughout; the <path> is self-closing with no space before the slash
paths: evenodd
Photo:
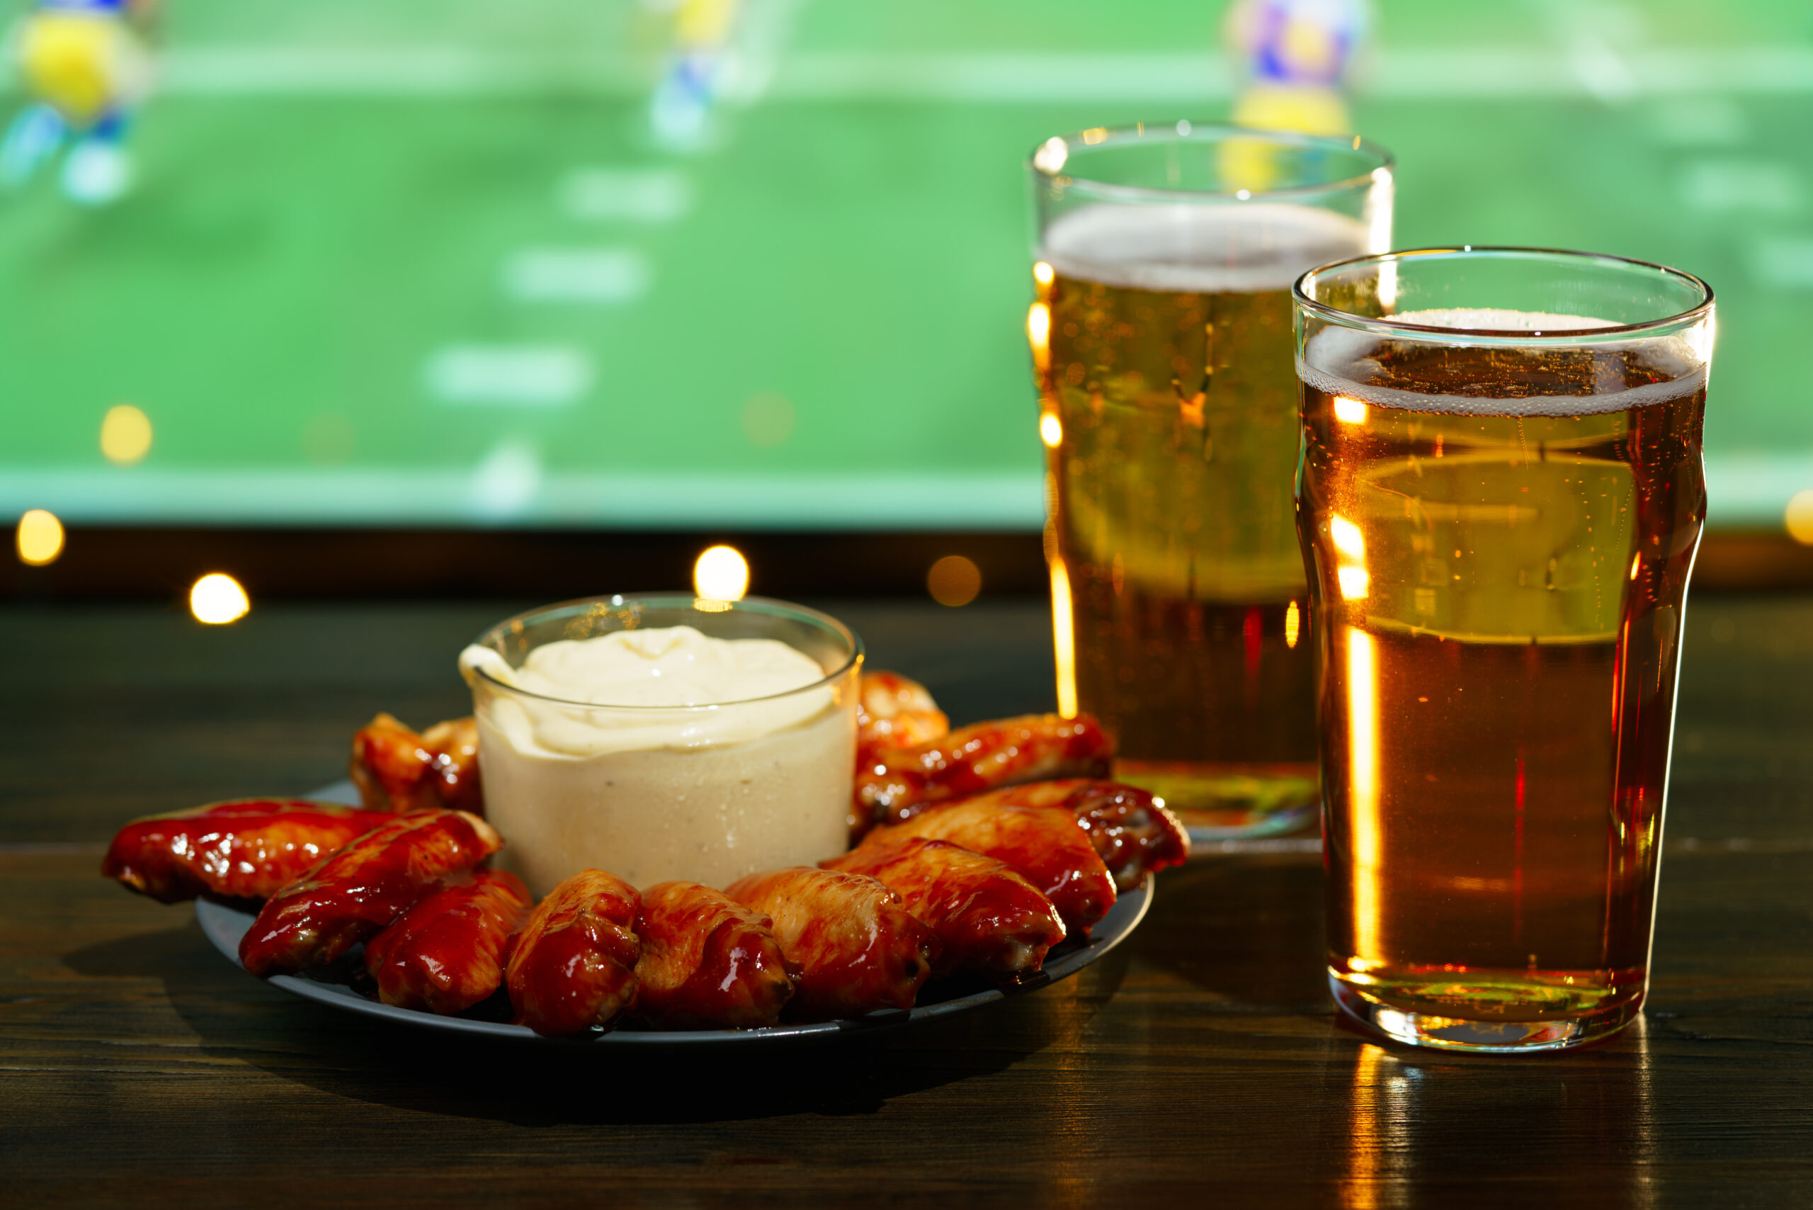
<path id="1" fill-rule="evenodd" d="M 504 981 L 502 952 L 529 914 L 515 874 L 450 874 L 364 945 L 377 998 L 399 1009 L 451 1016 L 490 1000 Z"/>

